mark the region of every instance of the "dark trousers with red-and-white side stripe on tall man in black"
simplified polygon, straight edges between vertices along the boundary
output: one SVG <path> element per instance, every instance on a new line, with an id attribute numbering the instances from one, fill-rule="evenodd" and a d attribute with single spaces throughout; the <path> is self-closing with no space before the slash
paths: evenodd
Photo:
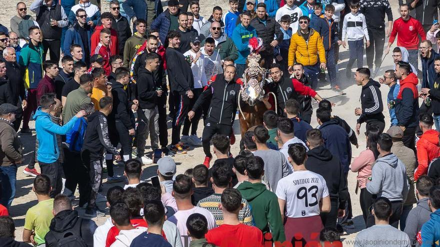
<path id="1" fill-rule="evenodd" d="M 184 92 L 173 92 L 172 98 L 175 115 L 172 119 L 171 145 L 175 145 L 180 141 L 180 127 L 188 114 L 190 99 Z"/>

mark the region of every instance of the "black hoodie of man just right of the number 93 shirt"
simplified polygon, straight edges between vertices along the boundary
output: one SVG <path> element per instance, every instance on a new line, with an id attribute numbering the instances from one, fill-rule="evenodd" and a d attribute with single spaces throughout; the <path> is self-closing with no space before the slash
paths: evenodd
<path id="1" fill-rule="evenodd" d="M 305 168 L 325 179 L 330 199 L 339 200 L 339 208 L 343 209 L 348 199 L 348 188 L 339 159 L 322 145 L 309 150 L 307 157 Z"/>

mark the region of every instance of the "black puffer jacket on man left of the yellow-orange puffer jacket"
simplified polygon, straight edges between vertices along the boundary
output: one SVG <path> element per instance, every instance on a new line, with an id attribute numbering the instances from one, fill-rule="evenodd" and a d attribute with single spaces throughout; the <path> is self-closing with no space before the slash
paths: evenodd
<path id="1" fill-rule="evenodd" d="M 274 35 L 276 35 L 278 43 L 280 43 L 284 37 L 281 29 L 279 29 L 281 27 L 279 23 L 270 17 L 266 17 L 266 24 L 264 24 L 258 17 L 255 17 L 250 21 L 250 25 L 255 28 L 256 34 L 263 40 L 264 50 L 260 51 L 261 55 L 266 56 L 273 54 L 273 47 L 270 46 L 270 42 L 273 41 Z"/>

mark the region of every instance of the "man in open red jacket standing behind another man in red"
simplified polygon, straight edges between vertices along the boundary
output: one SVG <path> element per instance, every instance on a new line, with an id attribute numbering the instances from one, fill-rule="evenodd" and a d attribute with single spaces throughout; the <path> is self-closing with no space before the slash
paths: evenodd
<path id="1" fill-rule="evenodd" d="M 111 15 L 110 12 L 103 12 L 101 14 L 101 22 L 102 24 L 100 26 L 96 26 L 94 29 L 93 34 L 91 34 L 90 37 L 90 55 L 93 55 L 93 51 L 95 50 L 96 46 L 99 43 L 99 35 L 101 33 L 101 30 L 104 28 L 108 28 L 111 31 L 111 37 L 110 37 L 110 53 L 111 55 L 118 55 L 119 54 L 119 48 L 117 43 L 117 32 L 116 30 L 111 28 L 111 22 L 113 19 L 113 15 Z"/>

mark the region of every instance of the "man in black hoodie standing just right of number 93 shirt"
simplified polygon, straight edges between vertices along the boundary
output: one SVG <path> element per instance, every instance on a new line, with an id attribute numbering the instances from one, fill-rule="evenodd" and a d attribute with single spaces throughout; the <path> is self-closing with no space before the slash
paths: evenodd
<path id="1" fill-rule="evenodd" d="M 347 181 L 339 159 L 322 144 L 322 134 L 318 129 L 307 131 L 307 160 L 305 168 L 325 179 L 330 194 L 331 210 L 320 214 L 324 227 L 336 227 L 338 211 L 343 211 L 349 198 Z"/>

